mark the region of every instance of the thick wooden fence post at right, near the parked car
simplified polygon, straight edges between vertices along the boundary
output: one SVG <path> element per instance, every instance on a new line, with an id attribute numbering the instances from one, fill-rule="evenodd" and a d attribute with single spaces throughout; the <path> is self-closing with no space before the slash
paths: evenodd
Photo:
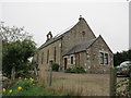
<path id="1" fill-rule="evenodd" d="M 117 71 L 110 68 L 110 96 L 116 96 Z"/>

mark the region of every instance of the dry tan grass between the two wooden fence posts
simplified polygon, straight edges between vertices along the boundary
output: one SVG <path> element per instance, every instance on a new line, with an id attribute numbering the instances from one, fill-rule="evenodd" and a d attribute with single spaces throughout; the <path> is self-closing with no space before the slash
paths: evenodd
<path id="1" fill-rule="evenodd" d="M 47 90 L 69 96 L 109 96 L 109 74 L 68 74 L 53 72 Z"/>

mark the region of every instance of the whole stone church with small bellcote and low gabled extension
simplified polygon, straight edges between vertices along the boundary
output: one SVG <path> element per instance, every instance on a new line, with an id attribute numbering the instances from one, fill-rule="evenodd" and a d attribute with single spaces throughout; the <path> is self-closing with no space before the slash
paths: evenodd
<path id="1" fill-rule="evenodd" d="M 61 71 L 83 66 L 87 73 L 108 73 L 114 64 L 114 54 L 104 38 L 100 35 L 96 37 L 80 16 L 79 22 L 61 35 L 52 37 L 49 32 L 34 60 L 39 70 L 52 60 L 60 65 Z"/>

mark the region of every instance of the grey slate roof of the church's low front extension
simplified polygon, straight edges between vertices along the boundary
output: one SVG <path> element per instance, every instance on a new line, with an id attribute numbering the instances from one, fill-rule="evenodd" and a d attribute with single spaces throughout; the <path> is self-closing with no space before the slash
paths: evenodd
<path id="1" fill-rule="evenodd" d="M 66 52 L 63 56 L 73 54 L 73 53 L 76 53 L 76 52 L 85 51 L 91 45 L 94 44 L 94 41 L 95 41 L 96 39 L 97 39 L 97 38 L 94 38 L 94 39 L 91 39 L 91 40 L 81 42 L 81 44 L 72 47 L 72 48 L 71 48 L 68 52 Z"/>

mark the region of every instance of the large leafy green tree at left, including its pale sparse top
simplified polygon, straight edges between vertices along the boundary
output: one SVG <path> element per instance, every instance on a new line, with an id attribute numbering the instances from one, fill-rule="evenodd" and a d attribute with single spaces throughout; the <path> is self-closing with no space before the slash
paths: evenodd
<path id="1" fill-rule="evenodd" d="M 28 61 L 36 51 L 36 44 L 32 36 L 23 28 L 0 25 L 0 37 L 2 38 L 2 71 L 11 77 L 11 69 L 15 68 L 16 76 L 28 74 L 32 64 Z"/>

